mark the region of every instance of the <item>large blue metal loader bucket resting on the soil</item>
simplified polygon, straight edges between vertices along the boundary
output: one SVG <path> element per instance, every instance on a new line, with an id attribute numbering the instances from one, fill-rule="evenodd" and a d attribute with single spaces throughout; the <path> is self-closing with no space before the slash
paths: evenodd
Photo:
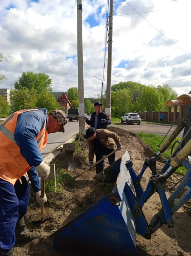
<path id="1" fill-rule="evenodd" d="M 106 177 L 116 177 L 114 193 L 106 195 L 51 235 L 55 251 L 70 256 L 87 253 L 91 256 L 137 255 L 136 225 L 124 190 L 127 182 L 136 197 L 132 178 L 125 166 L 129 159 L 126 150 L 122 158 L 107 168 Z M 114 172 L 113 176 L 114 169 L 119 173 Z"/>

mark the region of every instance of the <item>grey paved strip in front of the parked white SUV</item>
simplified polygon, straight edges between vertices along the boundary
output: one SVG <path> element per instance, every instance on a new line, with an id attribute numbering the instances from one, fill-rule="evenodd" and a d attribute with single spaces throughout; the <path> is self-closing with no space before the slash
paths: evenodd
<path id="1" fill-rule="evenodd" d="M 112 126 L 119 127 L 121 129 L 124 129 L 127 132 L 154 133 L 154 134 L 157 134 L 158 136 L 165 136 L 166 133 L 171 128 L 171 125 L 169 125 L 169 124 L 153 124 L 153 123 L 148 124 L 148 123 L 144 123 L 144 122 L 141 122 L 140 125 L 138 125 L 138 124 L 120 124 L 119 123 L 119 124 L 113 124 Z M 170 135 L 176 127 L 177 127 L 177 125 L 174 125 L 168 135 Z M 178 137 L 183 137 L 183 131 L 179 133 Z"/>

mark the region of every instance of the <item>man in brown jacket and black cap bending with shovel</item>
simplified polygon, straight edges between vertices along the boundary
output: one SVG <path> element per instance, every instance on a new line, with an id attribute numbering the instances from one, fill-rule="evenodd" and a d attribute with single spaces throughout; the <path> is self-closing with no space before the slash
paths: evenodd
<path id="1" fill-rule="evenodd" d="M 96 162 L 102 159 L 103 155 L 110 154 L 116 149 L 121 150 L 122 146 L 120 145 L 120 140 L 118 135 L 115 132 L 110 132 L 106 129 L 97 129 L 88 128 L 84 136 L 88 141 L 89 146 L 89 167 L 93 165 L 93 156 L 96 155 Z M 115 153 L 111 154 L 108 157 L 109 164 L 115 162 Z M 96 174 L 102 172 L 103 165 L 98 163 L 96 165 Z"/>

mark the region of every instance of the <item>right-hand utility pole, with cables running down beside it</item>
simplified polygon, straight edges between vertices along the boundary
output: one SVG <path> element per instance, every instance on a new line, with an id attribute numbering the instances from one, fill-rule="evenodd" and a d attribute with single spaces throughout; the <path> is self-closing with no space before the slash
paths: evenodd
<path id="1" fill-rule="evenodd" d="M 111 116 L 111 68 L 112 68 L 112 38 L 113 38 L 113 0 L 110 0 L 108 58 L 107 58 L 107 86 L 106 86 L 106 114 Z"/>

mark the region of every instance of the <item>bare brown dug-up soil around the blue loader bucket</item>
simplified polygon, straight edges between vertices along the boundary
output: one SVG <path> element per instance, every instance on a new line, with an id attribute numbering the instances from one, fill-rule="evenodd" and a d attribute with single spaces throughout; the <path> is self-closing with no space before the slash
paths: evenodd
<path id="1" fill-rule="evenodd" d="M 122 150 L 116 152 L 116 158 L 123 156 L 128 149 L 133 162 L 133 169 L 138 175 L 143 167 L 144 159 L 154 156 L 153 150 L 144 145 L 139 137 L 132 132 L 126 132 L 123 129 L 110 127 L 110 131 L 116 132 L 121 141 Z M 93 179 L 96 175 L 95 171 L 88 171 L 72 181 L 71 177 L 79 175 L 83 170 L 89 167 L 88 161 L 88 144 L 87 141 L 80 141 L 79 144 L 81 152 L 74 156 L 76 162 L 76 169 L 67 171 L 68 160 L 72 159 L 72 150 L 63 150 L 55 159 L 57 168 L 64 170 L 68 175 L 65 183 L 60 182 L 57 185 L 57 191 L 51 192 L 48 196 L 48 202 L 45 204 L 45 217 L 52 218 L 46 222 L 33 223 L 32 220 L 40 218 L 40 207 L 38 203 L 30 203 L 28 212 L 26 214 L 25 222 L 28 230 L 39 231 L 42 237 L 31 241 L 30 243 L 16 244 L 14 247 L 14 255 L 64 255 L 53 251 L 46 242 L 46 238 L 50 236 L 55 230 L 65 225 L 78 214 L 87 209 L 90 205 L 102 199 L 106 194 L 113 189 L 113 184 L 99 183 Z M 160 159 L 159 159 L 160 160 Z M 95 162 L 95 161 L 94 161 Z M 106 159 L 106 167 L 108 166 Z M 157 172 L 159 173 L 164 163 L 157 161 Z M 146 169 L 141 185 L 145 190 L 148 184 L 149 177 L 152 175 L 150 169 Z M 174 174 L 167 182 L 167 190 L 169 190 L 181 177 Z M 166 192 L 167 197 L 171 192 Z M 143 212 L 146 220 L 152 219 L 154 214 L 161 208 L 161 201 L 157 192 L 144 204 Z M 136 245 L 139 255 L 148 256 L 188 256 L 191 255 L 191 202 L 189 201 L 177 213 L 174 214 L 175 228 L 168 229 L 162 226 L 152 235 L 150 240 L 137 235 Z M 128 253 L 127 253 L 128 255 Z"/>

